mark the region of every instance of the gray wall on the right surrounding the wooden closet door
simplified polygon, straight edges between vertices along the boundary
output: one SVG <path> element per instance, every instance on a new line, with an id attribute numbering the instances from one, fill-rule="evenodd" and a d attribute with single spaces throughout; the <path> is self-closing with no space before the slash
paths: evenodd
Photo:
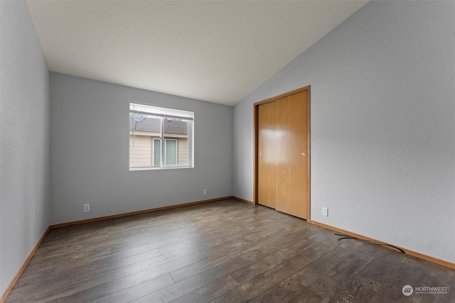
<path id="1" fill-rule="evenodd" d="M 240 101 L 235 196 L 252 104 L 311 85 L 311 219 L 455 263 L 454 5 L 370 1 Z"/>

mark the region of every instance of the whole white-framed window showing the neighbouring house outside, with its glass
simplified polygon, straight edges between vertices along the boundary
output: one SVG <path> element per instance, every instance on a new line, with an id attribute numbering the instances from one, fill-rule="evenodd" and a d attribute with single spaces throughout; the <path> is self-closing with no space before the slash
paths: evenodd
<path id="1" fill-rule="evenodd" d="M 193 167 L 193 117 L 191 111 L 130 102 L 129 169 Z"/>

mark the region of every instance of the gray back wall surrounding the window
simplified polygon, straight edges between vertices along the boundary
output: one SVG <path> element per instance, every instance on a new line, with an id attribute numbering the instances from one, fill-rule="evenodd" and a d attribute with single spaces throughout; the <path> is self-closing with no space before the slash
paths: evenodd
<path id="1" fill-rule="evenodd" d="M 129 101 L 194 111 L 194 168 L 129 171 Z M 232 195 L 232 106 L 54 72 L 50 104 L 50 224 Z"/>

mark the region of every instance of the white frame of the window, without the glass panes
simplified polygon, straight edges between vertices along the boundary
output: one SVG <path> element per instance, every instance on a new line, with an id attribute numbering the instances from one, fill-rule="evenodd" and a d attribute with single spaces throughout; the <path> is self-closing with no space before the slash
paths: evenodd
<path id="1" fill-rule="evenodd" d="M 146 167 L 131 167 L 129 165 L 129 170 L 166 170 L 166 169 L 175 169 L 175 168 L 192 168 L 194 167 L 194 113 L 192 111 L 181 111 L 178 109 L 166 109 L 159 106 L 151 106 L 148 104 L 140 104 L 137 102 L 129 101 L 129 114 L 141 114 L 146 116 L 151 116 L 154 118 L 161 119 L 161 135 L 160 138 L 152 139 L 151 153 L 153 157 L 153 142 L 158 139 L 161 141 L 161 166 L 146 166 Z M 130 115 L 128 115 L 130 116 Z M 166 165 L 166 140 L 176 140 L 174 138 L 165 138 L 164 137 L 164 119 L 173 118 L 173 119 L 183 119 L 188 122 L 188 164 L 184 165 Z M 134 131 L 133 131 L 134 136 Z M 178 140 L 176 140 L 176 163 L 178 163 Z M 163 144 L 164 143 L 164 144 Z M 130 143 L 131 144 L 131 143 Z M 131 155 L 129 155 L 131 157 Z M 129 158 L 128 158 L 129 160 Z M 151 163 L 153 165 L 153 161 Z"/>

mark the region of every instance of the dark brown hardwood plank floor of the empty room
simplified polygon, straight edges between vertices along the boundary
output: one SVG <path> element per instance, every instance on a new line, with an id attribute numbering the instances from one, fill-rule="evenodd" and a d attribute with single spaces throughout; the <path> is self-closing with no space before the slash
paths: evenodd
<path id="1" fill-rule="evenodd" d="M 455 270 L 338 238 L 236 200 L 55 228 L 6 302 L 455 302 Z"/>

